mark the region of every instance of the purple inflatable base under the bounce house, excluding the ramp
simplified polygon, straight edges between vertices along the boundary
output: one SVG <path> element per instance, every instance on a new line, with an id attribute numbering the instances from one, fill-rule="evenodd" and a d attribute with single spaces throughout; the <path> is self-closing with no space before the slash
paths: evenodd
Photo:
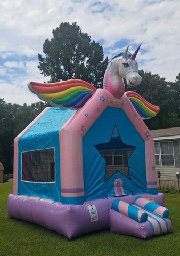
<path id="1" fill-rule="evenodd" d="M 140 194 L 140 196 L 154 198 L 156 203 L 163 205 L 164 195 L 162 193 L 158 195 Z M 109 228 L 110 210 L 114 199 L 120 198 L 133 204 L 136 197 L 137 195 L 128 195 L 86 201 L 83 205 L 64 205 L 59 202 L 45 202 L 43 198 L 41 200 L 36 197 L 9 195 L 7 208 L 9 217 L 34 222 L 68 238 L 73 238 L 91 231 Z M 94 219 L 93 213 L 89 212 L 91 205 L 96 207 Z M 147 230 L 142 232 L 149 234 L 149 228 L 146 228 Z"/>

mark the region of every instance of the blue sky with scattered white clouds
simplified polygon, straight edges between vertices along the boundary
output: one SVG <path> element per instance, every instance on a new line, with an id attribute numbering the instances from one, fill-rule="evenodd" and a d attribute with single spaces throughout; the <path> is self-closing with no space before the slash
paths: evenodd
<path id="1" fill-rule="evenodd" d="M 27 84 L 47 82 L 38 53 L 61 22 L 77 22 L 110 59 L 134 52 L 139 69 L 175 82 L 180 72 L 178 0 L 0 0 L 0 98 L 23 105 L 39 101 Z"/>

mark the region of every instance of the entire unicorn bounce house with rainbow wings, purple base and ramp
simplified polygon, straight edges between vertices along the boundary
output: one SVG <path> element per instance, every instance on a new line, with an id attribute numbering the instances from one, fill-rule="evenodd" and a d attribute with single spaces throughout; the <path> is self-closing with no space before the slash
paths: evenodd
<path id="1" fill-rule="evenodd" d="M 14 140 L 10 217 L 73 238 L 110 227 L 147 238 L 171 231 L 158 194 L 153 136 L 143 119 L 159 112 L 128 85 L 141 83 L 128 47 L 112 58 L 104 88 L 71 79 L 31 82 L 47 107 Z"/>

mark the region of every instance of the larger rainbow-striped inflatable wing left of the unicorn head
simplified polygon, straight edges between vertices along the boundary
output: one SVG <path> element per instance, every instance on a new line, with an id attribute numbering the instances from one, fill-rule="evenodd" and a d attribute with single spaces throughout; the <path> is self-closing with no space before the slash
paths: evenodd
<path id="1" fill-rule="evenodd" d="M 51 106 L 73 110 L 83 107 L 97 90 L 93 85 L 80 79 L 52 84 L 30 82 L 28 87 L 32 93 Z"/>

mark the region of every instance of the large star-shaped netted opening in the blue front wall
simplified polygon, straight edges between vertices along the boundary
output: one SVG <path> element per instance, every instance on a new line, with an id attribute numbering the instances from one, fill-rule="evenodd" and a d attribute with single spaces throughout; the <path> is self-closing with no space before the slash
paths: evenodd
<path id="1" fill-rule="evenodd" d="M 94 147 L 105 159 L 105 181 L 115 173 L 120 172 L 130 179 L 128 159 L 136 149 L 135 146 L 125 144 L 114 126 L 111 139 L 107 143 L 97 144 Z"/>

